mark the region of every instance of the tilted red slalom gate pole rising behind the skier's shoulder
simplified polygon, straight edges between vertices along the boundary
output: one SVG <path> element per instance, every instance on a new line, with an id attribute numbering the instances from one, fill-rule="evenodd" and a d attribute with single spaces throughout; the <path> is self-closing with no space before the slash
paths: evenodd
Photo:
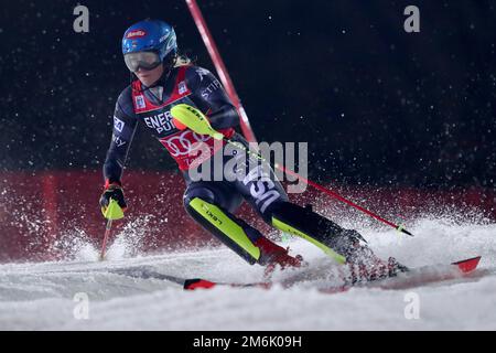
<path id="1" fill-rule="evenodd" d="M 186 0 L 187 8 L 195 21 L 196 26 L 198 28 L 198 32 L 202 35 L 203 42 L 211 55 L 212 61 L 214 62 L 215 69 L 220 78 L 220 82 L 226 87 L 227 95 L 233 101 L 236 110 L 241 117 L 241 130 L 242 135 L 249 142 L 257 142 L 255 138 L 254 130 L 251 129 L 250 121 L 248 120 L 248 116 L 246 115 L 245 108 L 241 105 L 241 100 L 239 99 L 238 94 L 234 87 L 233 81 L 230 79 L 229 73 L 227 72 L 226 65 L 224 65 L 223 58 L 217 50 L 217 45 L 215 44 L 214 38 L 208 30 L 208 26 L 203 18 L 202 10 L 200 10 L 196 0 Z"/>

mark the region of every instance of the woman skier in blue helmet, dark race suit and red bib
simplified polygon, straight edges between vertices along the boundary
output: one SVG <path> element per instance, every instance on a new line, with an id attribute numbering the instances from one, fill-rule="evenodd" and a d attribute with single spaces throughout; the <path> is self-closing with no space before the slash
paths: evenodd
<path id="1" fill-rule="evenodd" d="M 248 176 L 240 180 L 192 180 L 190 171 L 212 164 L 214 154 L 224 154 L 225 142 L 215 143 L 212 137 L 185 128 L 171 115 L 171 108 L 186 104 L 197 109 L 215 130 L 248 148 L 234 129 L 239 124 L 235 107 L 212 73 L 177 55 L 174 29 L 163 21 L 145 20 L 131 25 L 122 38 L 122 53 L 132 83 L 116 104 L 114 133 L 104 164 L 101 207 L 106 208 L 110 199 L 127 207 L 122 169 L 140 122 L 168 149 L 183 172 L 187 185 L 183 197 L 186 212 L 249 264 L 273 270 L 277 265 L 300 267 L 304 263 L 301 256 L 290 256 L 288 249 L 234 215 L 244 200 L 271 226 L 310 240 L 342 264 L 358 265 L 362 272 L 366 269 L 367 279 L 390 276 L 398 270 L 400 265 L 395 259 L 377 258 L 357 232 L 342 228 L 313 212 L 311 206 L 290 203 L 267 164 L 246 170 Z M 203 151 L 194 150 L 197 143 L 202 149 L 206 147 L 211 158 L 205 159 Z M 223 164 L 231 158 L 234 153 L 222 156 Z M 249 168 L 248 163 L 244 165 Z"/>

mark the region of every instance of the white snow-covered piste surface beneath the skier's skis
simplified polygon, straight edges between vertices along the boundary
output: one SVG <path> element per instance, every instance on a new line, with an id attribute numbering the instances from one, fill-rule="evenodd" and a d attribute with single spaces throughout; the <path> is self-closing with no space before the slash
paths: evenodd
<path id="1" fill-rule="evenodd" d="M 290 244 L 293 253 L 304 255 L 317 279 L 290 289 L 219 287 L 183 291 L 172 281 L 114 271 L 145 266 L 182 278 L 252 282 L 262 278 L 262 268 L 248 266 L 223 248 L 137 258 L 122 258 L 116 249 L 112 255 L 110 248 L 109 260 L 104 263 L 96 261 L 95 250 L 87 252 L 83 261 L 0 265 L 0 329 L 496 330 L 496 225 L 421 220 L 412 232 L 414 238 L 399 237 L 393 231 L 363 231 L 380 256 L 396 256 L 409 266 L 482 255 L 481 269 L 470 278 L 419 288 L 353 288 L 328 296 L 316 287 L 332 261 L 295 239 Z M 274 279 L 299 275 L 277 272 Z M 80 304 L 74 296 L 80 292 L 89 298 L 87 320 L 74 317 Z M 411 298 L 418 298 L 419 319 L 406 318 Z"/>

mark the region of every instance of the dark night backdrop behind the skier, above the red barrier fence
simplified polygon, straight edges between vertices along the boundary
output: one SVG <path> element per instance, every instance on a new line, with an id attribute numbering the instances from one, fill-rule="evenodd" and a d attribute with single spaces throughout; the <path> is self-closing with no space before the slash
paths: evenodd
<path id="1" fill-rule="evenodd" d="M 311 178 L 494 188 L 494 1 L 198 2 L 258 140 L 309 141 Z M 0 171 L 101 168 L 129 83 L 120 40 L 148 17 L 214 71 L 184 1 L 2 0 Z M 131 149 L 129 168 L 174 168 L 143 131 Z"/>

